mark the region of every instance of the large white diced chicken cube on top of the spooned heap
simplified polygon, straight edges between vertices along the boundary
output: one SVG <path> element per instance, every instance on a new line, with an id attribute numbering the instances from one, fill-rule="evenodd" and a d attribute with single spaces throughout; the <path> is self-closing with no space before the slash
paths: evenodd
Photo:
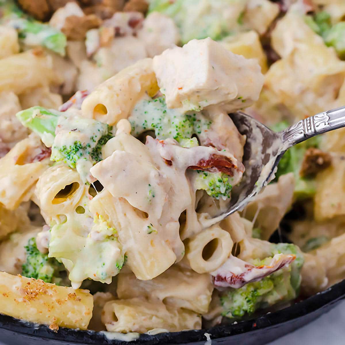
<path id="1" fill-rule="evenodd" d="M 154 71 L 169 108 L 236 111 L 259 97 L 264 76 L 256 60 L 227 51 L 210 38 L 191 40 L 154 57 Z"/>

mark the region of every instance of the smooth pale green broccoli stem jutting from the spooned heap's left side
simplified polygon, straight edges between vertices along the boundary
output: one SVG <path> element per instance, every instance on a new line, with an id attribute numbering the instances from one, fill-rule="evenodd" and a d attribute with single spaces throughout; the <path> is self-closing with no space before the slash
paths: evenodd
<path id="1" fill-rule="evenodd" d="M 19 111 L 16 116 L 23 126 L 31 129 L 41 139 L 46 134 L 51 134 L 55 137 L 55 129 L 60 116 L 59 111 L 35 106 Z"/>

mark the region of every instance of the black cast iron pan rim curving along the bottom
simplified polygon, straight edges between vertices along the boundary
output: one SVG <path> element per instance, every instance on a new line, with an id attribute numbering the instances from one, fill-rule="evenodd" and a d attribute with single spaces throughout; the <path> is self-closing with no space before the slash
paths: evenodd
<path id="1" fill-rule="evenodd" d="M 140 335 L 134 342 L 108 340 L 105 335 L 93 331 L 78 331 L 61 327 L 57 333 L 45 325 L 23 322 L 0 314 L 0 341 L 5 344 L 205 344 L 205 333 L 210 334 L 212 344 L 266 344 L 282 335 L 313 321 L 345 298 L 345 280 L 327 290 L 309 297 L 285 309 L 231 325 L 219 325 L 210 329 L 160 333 L 154 336 Z"/>

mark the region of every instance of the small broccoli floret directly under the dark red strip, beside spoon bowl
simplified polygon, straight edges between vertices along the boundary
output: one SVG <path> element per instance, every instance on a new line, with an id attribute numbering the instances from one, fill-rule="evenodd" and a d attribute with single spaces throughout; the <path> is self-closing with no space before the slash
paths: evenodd
<path id="1" fill-rule="evenodd" d="M 233 186 L 230 184 L 231 177 L 224 172 L 208 172 L 196 170 L 194 187 L 197 190 L 203 189 L 206 193 L 215 198 L 223 200 L 230 198 Z"/>

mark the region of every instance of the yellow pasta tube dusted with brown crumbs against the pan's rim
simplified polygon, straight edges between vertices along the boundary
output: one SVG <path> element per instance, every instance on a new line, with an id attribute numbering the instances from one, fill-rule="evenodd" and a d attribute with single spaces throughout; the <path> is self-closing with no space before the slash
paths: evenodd
<path id="1" fill-rule="evenodd" d="M 0 313 L 31 322 L 86 329 L 93 308 L 88 290 L 73 290 L 0 272 Z"/>

